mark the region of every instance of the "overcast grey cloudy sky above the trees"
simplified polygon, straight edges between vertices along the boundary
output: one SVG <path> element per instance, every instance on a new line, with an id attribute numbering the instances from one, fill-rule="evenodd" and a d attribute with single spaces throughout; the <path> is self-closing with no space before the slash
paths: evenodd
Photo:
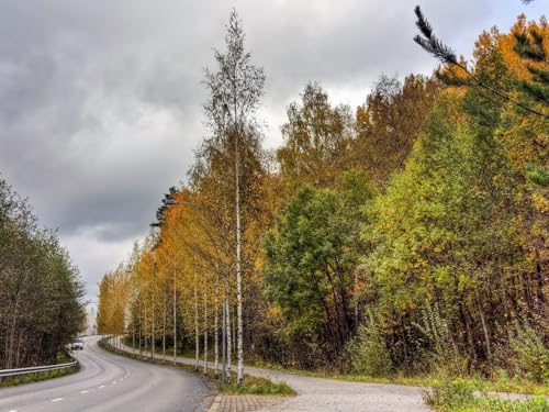
<path id="1" fill-rule="evenodd" d="M 235 7 L 264 66 L 265 144 L 281 144 L 285 107 L 309 80 L 360 104 L 381 73 L 429 74 L 412 42 L 419 0 L 2 0 L 0 174 L 58 227 L 97 300 L 102 274 L 148 231 L 165 190 L 184 180 L 206 134 L 203 68 Z M 507 29 L 547 0 L 424 0 L 455 49 Z"/>

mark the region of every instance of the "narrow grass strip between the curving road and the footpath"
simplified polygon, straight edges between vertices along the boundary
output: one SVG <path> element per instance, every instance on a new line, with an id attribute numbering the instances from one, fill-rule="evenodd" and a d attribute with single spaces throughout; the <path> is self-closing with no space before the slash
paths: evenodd
<path id="1" fill-rule="evenodd" d="M 127 338 L 123 339 L 124 344 L 132 346 L 132 339 L 130 338 L 130 342 L 127 342 Z M 103 338 L 99 341 L 99 346 L 102 347 L 105 350 L 126 356 L 126 357 L 132 357 L 132 358 L 139 358 L 138 355 L 133 355 L 131 353 L 127 353 L 125 350 L 120 350 L 117 348 L 114 348 L 110 343 L 107 342 L 107 338 Z M 173 350 L 173 348 L 171 348 Z M 155 353 L 158 353 L 158 349 L 155 350 Z M 160 353 L 161 353 L 161 347 L 160 347 Z M 166 350 L 167 354 L 170 354 L 170 352 Z M 192 353 L 194 356 L 194 353 Z M 186 352 L 182 352 L 178 354 L 178 356 L 186 356 Z M 193 357 L 192 356 L 192 357 Z M 148 357 L 142 357 L 141 360 L 146 360 L 146 361 L 152 361 L 150 358 Z M 173 366 L 172 361 L 168 360 L 163 360 L 163 359 L 155 359 L 155 364 L 159 365 L 170 365 Z M 219 376 L 214 375 L 214 370 L 209 368 L 206 374 L 203 374 L 203 368 L 200 368 L 199 371 L 194 370 L 194 366 L 192 365 L 187 365 L 187 364 L 177 364 L 177 367 L 183 370 L 187 370 L 189 372 L 193 374 L 200 374 L 203 376 L 208 381 L 213 385 L 213 387 L 221 393 L 231 393 L 231 394 L 262 394 L 262 396 L 281 396 L 281 397 L 293 397 L 295 396 L 295 391 L 290 388 L 285 382 L 279 382 L 274 383 L 269 379 L 266 378 L 257 378 L 253 377 L 249 375 L 244 376 L 244 382 L 243 385 L 238 386 L 236 385 L 236 374 L 232 374 L 232 379 L 231 383 L 226 383 L 222 380 L 221 374 Z"/>

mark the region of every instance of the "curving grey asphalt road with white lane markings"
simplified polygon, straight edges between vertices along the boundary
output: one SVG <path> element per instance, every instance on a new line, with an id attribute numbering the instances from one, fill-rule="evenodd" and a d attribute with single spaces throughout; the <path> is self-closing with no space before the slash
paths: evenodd
<path id="1" fill-rule="evenodd" d="M 85 338 L 80 370 L 61 378 L 0 388 L 0 412 L 201 411 L 210 389 L 193 374 L 113 355 Z"/>

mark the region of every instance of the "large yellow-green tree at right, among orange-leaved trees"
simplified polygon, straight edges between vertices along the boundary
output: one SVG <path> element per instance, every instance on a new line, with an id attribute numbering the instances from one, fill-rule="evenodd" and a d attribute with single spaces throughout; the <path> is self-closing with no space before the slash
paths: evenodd
<path id="1" fill-rule="evenodd" d="M 478 78 L 509 88 L 496 44 L 482 37 L 477 52 Z M 414 356 L 414 322 L 429 304 L 455 325 L 451 336 L 469 359 L 490 360 L 498 325 L 520 318 L 539 288 L 526 278 L 527 292 L 515 288 L 533 269 L 524 254 L 531 204 L 496 140 L 504 110 L 483 89 L 462 99 L 445 93 L 404 171 L 370 210 L 369 300 L 397 364 Z"/>

